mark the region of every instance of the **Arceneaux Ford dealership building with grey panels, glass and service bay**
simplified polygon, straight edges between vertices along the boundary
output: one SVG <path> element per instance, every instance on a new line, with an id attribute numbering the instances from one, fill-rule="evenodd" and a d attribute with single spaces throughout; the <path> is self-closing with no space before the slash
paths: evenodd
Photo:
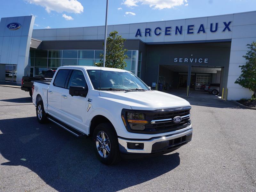
<path id="1" fill-rule="evenodd" d="M 228 100 L 252 92 L 234 82 L 246 60 L 246 44 L 256 41 L 256 11 L 227 15 L 108 25 L 126 38 L 126 70 L 156 89 L 200 91 L 220 84 Z M 1 18 L 0 82 L 21 84 L 22 76 L 100 61 L 104 26 L 33 29 L 34 16 Z M 162 87 L 162 86 L 161 86 Z M 160 88 L 160 87 L 159 87 Z"/>

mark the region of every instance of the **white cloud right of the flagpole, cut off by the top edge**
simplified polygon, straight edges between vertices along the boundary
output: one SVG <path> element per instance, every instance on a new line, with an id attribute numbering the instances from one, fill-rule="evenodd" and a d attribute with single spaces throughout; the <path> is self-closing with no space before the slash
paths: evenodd
<path id="1" fill-rule="evenodd" d="M 185 5 L 188 6 L 188 0 L 124 0 L 124 5 L 127 7 L 138 6 L 138 3 L 149 5 L 153 9 L 173 8 L 175 6 Z"/>

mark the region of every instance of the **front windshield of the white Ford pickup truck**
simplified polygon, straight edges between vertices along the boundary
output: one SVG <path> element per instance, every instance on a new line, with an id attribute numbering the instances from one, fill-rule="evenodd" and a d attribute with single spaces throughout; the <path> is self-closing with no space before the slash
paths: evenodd
<path id="1" fill-rule="evenodd" d="M 150 90 L 130 72 L 87 70 L 94 89 L 98 90 Z"/>

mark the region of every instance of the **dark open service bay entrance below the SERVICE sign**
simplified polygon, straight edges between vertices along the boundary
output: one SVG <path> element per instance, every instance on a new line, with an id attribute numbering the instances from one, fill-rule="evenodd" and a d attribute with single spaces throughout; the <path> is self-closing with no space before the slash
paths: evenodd
<path id="1" fill-rule="evenodd" d="M 206 91 L 210 84 L 219 84 L 221 94 L 224 67 L 159 65 L 158 90 L 189 94 Z"/>

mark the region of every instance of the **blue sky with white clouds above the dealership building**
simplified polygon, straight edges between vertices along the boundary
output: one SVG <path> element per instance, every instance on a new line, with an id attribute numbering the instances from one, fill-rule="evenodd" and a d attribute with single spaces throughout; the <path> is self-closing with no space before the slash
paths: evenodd
<path id="1" fill-rule="evenodd" d="M 256 10 L 256 0 L 109 0 L 108 24 L 212 16 Z M 34 28 L 105 24 L 106 0 L 1 1 L 0 17 L 36 16 Z"/>

